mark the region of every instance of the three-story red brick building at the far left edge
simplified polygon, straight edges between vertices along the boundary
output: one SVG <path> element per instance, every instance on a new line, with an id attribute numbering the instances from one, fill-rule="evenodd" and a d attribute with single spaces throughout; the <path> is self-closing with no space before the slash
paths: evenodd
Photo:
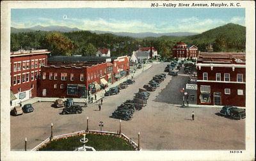
<path id="1" fill-rule="evenodd" d="M 23 50 L 10 53 L 11 107 L 36 96 L 37 78 L 47 64 L 47 50 Z"/>

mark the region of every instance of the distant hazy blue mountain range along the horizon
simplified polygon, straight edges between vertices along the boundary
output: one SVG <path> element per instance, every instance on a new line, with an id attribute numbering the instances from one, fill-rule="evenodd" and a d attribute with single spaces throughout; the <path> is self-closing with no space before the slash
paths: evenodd
<path id="1" fill-rule="evenodd" d="M 83 31 L 77 27 L 71 28 L 67 26 L 33 26 L 28 28 L 15 28 L 11 27 L 11 33 L 26 33 L 31 31 L 59 31 L 63 33 L 68 33 L 72 31 Z M 117 36 L 129 36 L 132 38 L 146 38 L 146 37 L 161 37 L 161 36 L 192 36 L 198 33 L 189 33 L 189 32 L 175 32 L 175 33 L 152 33 L 152 32 L 145 32 L 145 33 L 129 33 L 129 32 L 112 32 L 112 31 L 92 31 L 89 30 L 91 33 L 96 34 L 105 34 L 111 33 Z"/>

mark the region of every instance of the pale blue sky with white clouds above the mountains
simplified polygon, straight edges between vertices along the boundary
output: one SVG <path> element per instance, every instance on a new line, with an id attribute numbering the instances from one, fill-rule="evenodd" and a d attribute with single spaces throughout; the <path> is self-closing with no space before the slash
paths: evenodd
<path id="1" fill-rule="evenodd" d="M 12 9 L 11 26 L 67 26 L 113 32 L 202 33 L 228 23 L 245 26 L 244 8 Z"/>

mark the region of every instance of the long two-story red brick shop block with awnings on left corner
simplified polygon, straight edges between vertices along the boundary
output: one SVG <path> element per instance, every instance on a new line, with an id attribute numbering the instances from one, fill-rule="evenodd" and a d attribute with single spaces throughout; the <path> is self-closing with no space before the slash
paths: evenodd
<path id="1" fill-rule="evenodd" d="M 38 96 L 86 98 L 88 93 L 93 94 L 120 79 L 124 75 L 122 71 L 127 74 L 127 70 L 127 56 L 49 57 L 48 65 L 42 68 Z M 116 79 L 116 75 L 120 77 Z"/>

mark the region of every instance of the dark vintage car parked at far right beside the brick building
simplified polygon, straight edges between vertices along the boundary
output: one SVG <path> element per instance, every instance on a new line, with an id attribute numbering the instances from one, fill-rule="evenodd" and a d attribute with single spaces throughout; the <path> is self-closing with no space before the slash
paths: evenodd
<path id="1" fill-rule="evenodd" d="M 243 119 L 246 117 L 245 109 L 239 109 L 233 106 L 223 106 L 220 114 L 234 119 Z"/>

